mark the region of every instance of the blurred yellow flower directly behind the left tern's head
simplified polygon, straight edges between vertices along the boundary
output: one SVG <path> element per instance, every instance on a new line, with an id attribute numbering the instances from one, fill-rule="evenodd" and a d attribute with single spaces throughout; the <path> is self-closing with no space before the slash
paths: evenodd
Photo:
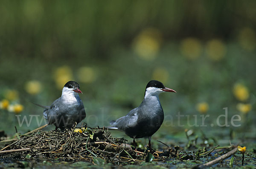
<path id="1" fill-rule="evenodd" d="M 63 86 L 72 79 L 72 70 L 68 66 L 61 66 L 55 70 L 53 78 L 57 87 L 62 89 Z"/>

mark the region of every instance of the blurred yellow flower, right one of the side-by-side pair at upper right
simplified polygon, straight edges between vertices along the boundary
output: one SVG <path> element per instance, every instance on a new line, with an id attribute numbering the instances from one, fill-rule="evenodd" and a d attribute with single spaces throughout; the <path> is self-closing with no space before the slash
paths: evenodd
<path id="1" fill-rule="evenodd" d="M 219 39 L 212 39 L 206 45 L 206 53 L 214 61 L 221 60 L 226 54 L 226 46 Z"/>

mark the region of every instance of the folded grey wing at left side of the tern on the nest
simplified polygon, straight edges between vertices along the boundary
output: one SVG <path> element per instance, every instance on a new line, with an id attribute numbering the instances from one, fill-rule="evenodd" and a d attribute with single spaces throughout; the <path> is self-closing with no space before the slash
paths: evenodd
<path id="1" fill-rule="evenodd" d="M 61 106 L 59 104 L 61 98 L 58 98 L 55 100 L 52 105 L 49 107 L 49 109 L 44 110 L 44 117 L 48 120 L 48 124 L 55 123 L 55 119 L 57 119 L 58 115 L 61 115 L 59 109 Z M 58 103 L 58 104 L 57 104 Z"/>

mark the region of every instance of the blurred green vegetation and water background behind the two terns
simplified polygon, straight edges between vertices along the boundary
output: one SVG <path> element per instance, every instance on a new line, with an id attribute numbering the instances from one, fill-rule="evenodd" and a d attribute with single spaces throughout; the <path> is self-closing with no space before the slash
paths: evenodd
<path id="1" fill-rule="evenodd" d="M 84 122 L 108 126 L 137 107 L 148 81 L 157 79 L 177 93 L 160 95 L 166 118 L 154 137 L 172 138 L 186 128 L 255 133 L 255 8 L 253 0 L 2 0 L 0 100 L 16 90 L 10 104 L 24 106 L 21 118 L 41 119 L 43 110 L 29 101 L 50 105 L 61 96 L 57 79 L 68 74 L 84 93 Z M 56 73 L 60 68 L 66 72 Z M 40 83 L 38 93 L 27 92 L 29 81 Z M 238 83 L 249 93 L 242 101 L 233 94 Z M 209 105 L 207 127 L 190 127 L 186 116 L 184 127 L 177 126 L 178 112 L 190 115 L 191 124 L 197 115 L 200 124 L 201 102 Z M 247 115 L 239 112 L 239 103 L 251 105 Z M 224 107 L 229 124 L 241 115 L 240 127 L 210 127 Z M 35 118 L 29 127 L 19 127 L 15 113 L 3 109 L 0 121 L 9 135 L 14 126 L 21 133 L 38 127 Z"/>

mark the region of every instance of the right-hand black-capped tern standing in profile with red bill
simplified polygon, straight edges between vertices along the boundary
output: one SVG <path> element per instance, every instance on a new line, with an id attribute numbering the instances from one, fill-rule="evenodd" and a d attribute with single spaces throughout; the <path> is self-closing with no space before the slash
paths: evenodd
<path id="1" fill-rule="evenodd" d="M 159 94 L 163 92 L 176 93 L 175 90 L 165 87 L 162 82 L 149 81 L 140 106 L 132 109 L 127 115 L 111 121 L 111 126 L 108 128 L 121 130 L 133 138 L 135 149 L 135 138 L 148 138 L 148 147 L 152 153 L 151 136 L 157 132 L 164 119 L 163 108 L 159 100 Z"/>

